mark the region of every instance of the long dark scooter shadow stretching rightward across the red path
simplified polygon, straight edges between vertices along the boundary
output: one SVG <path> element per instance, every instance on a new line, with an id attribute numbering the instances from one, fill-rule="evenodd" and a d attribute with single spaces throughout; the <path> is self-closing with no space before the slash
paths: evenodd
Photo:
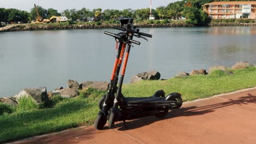
<path id="1" fill-rule="evenodd" d="M 232 100 L 232 99 L 227 99 L 227 100 L 228 101 L 225 101 L 223 103 L 217 103 L 212 105 L 182 107 L 181 109 L 178 109 L 178 110 L 169 111 L 164 118 L 156 118 L 155 116 L 149 116 L 149 117 L 143 117 L 143 118 L 127 121 L 126 122 L 127 129 L 125 128 L 125 125 L 123 122 L 119 122 L 115 124 L 115 128 L 120 131 L 137 129 L 157 121 L 162 121 L 164 119 L 170 119 L 174 117 L 205 115 L 206 113 L 214 112 L 222 107 L 231 106 L 231 105 L 248 105 L 249 103 L 256 104 L 256 96 L 249 93 L 245 97 L 240 97 L 235 100 Z"/>

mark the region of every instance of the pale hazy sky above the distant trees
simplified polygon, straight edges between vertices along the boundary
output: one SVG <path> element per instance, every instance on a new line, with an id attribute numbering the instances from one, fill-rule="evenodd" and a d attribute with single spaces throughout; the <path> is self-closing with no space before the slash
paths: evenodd
<path id="1" fill-rule="evenodd" d="M 166 6 L 171 2 L 177 0 L 152 0 L 152 8 L 155 9 L 159 6 Z M 19 10 L 30 11 L 34 7 L 34 3 L 45 9 L 54 8 L 61 13 L 65 9 L 142 9 L 149 8 L 150 0 L 0 0 L 0 8 L 14 8 Z"/>

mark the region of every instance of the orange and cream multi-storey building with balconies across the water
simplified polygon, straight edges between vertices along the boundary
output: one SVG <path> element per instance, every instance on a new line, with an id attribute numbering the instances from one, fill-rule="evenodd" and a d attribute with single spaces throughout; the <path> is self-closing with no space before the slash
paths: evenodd
<path id="1" fill-rule="evenodd" d="M 212 2 L 202 5 L 211 19 L 256 19 L 256 2 Z"/>

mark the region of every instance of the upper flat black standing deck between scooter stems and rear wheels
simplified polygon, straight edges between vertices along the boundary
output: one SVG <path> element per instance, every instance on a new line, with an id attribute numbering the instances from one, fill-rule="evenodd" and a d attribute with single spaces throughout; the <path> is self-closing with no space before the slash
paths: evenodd
<path id="1" fill-rule="evenodd" d="M 125 98 L 126 103 L 170 103 L 165 97 L 131 97 Z"/>

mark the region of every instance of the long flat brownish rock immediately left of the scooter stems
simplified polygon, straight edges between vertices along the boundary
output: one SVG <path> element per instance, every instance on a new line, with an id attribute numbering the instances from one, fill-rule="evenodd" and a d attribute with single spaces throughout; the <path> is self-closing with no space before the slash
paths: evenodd
<path id="1" fill-rule="evenodd" d="M 88 87 L 90 88 L 95 88 L 99 89 L 102 91 L 106 91 L 108 89 L 108 82 L 106 81 L 86 81 L 80 84 L 80 89 L 87 89 Z"/>

